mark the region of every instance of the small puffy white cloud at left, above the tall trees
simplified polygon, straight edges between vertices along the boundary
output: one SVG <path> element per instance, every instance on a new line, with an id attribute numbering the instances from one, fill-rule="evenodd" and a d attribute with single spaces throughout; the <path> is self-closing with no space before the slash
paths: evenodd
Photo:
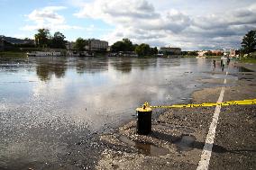
<path id="1" fill-rule="evenodd" d="M 69 25 L 66 23 L 65 17 L 57 13 L 57 11 L 64 10 L 65 6 L 46 6 L 41 9 L 35 9 L 32 13 L 25 15 L 28 21 L 34 24 L 28 24 L 21 28 L 23 31 L 34 31 L 40 28 L 47 28 L 51 31 L 61 31 L 70 29 L 83 29 L 76 25 Z"/>

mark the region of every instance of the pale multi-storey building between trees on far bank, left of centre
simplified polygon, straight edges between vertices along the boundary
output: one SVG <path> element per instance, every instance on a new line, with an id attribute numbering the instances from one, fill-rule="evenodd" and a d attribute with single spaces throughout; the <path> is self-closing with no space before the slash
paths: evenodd
<path id="1" fill-rule="evenodd" d="M 89 39 L 86 49 L 93 51 L 106 51 L 108 49 L 108 42 L 105 40 Z"/>

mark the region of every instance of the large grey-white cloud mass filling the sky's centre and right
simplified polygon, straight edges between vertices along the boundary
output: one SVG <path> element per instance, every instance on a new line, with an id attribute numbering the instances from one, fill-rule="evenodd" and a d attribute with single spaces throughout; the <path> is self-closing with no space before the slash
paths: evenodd
<path id="1" fill-rule="evenodd" d="M 110 43 L 129 38 L 135 43 L 165 44 L 184 49 L 226 48 L 224 46 L 238 48 L 241 37 L 256 28 L 256 4 L 253 3 L 247 2 L 244 6 L 240 4 L 238 8 L 232 8 L 231 5 L 229 9 L 215 1 L 207 2 L 209 6 L 204 8 L 213 9 L 210 6 L 212 4 L 217 10 L 200 13 L 198 11 L 202 6 L 198 5 L 200 8 L 197 14 L 187 13 L 185 8 L 180 10 L 177 5 L 160 8 L 161 3 L 170 4 L 167 0 L 161 0 L 159 4 L 152 3 L 150 0 L 79 1 L 80 10 L 74 15 L 100 19 L 114 25 L 114 31 L 103 37 Z M 178 1 L 174 4 L 178 4 Z M 187 1 L 188 4 L 197 7 L 197 4 Z"/>

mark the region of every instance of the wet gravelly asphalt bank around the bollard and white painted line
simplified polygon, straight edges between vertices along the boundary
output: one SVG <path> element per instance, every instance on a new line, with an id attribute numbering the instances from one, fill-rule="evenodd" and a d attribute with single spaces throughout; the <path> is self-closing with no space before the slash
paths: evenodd
<path id="1" fill-rule="evenodd" d="M 255 76 L 255 72 L 242 72 L 228 79 L 224 101 L 256 98 Z M 216 85 L 220 81 L 204 82 Z M 221 89 L 194 92 L 193 103 L 215 103 Z M 210 169 L 255 168 L 255 109 L 255 105 L 221 109 Z M 149 136 L 137 135 L 136 121 L 131 121 L 116 133 L 101 136 L 115 147 L 104 149 L 96 169 L 197 169 L 214 112 L 215 107 L 170 109 L 152 122 Z"/>

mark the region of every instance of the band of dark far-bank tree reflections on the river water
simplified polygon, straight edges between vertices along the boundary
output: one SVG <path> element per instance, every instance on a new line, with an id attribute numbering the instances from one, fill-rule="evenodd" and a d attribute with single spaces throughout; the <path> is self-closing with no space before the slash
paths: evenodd
<path id="1" fill-rule="evenodd" d="M 113 67 L 116 71 L 129 74 L 133 67 L 144 70 L 149 67 L 157 67 L 158 58 L 33 58 L 36 62 L 36 74 L 41 81 L 50 81 L 52 76 L 62 78 L 68 67 L 75 67 L 79 75 L 85 73 L 104 72 Z M 179 64 L 175 64 L 179 66 Z M 161 63 L 160 67 L 169 66 L 169 63 Z"/>

